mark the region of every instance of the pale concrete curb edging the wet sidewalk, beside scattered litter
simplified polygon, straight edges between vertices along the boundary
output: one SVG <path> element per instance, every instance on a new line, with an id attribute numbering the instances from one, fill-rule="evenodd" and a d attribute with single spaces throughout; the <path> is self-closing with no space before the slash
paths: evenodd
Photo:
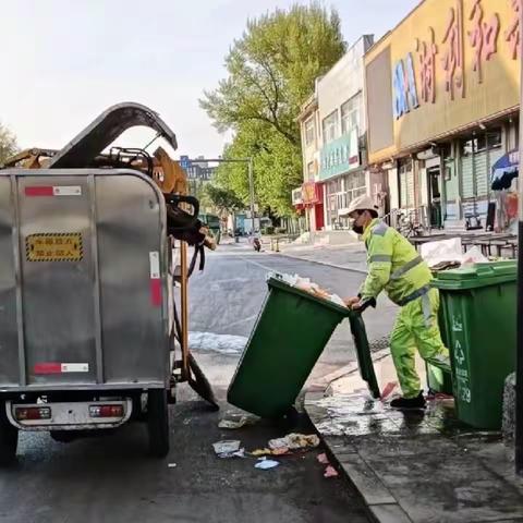
<path id="1" fill-rule="evenodd" d="M 379 351 L 377 353 L 378 357 L 373 360 L 384 357 L 386 352 L 388 350 Z M 351 368 L 344 376 L 350 376 L 355 372 L 357 372 L 357 367 Z M 330 384 L 327 385 L 325 391 L 329 387 Z M 305 393 L 304 410 L 315 428 L 324 417 L 323 409 L 316 404 L 316 401 L 325 398 L 325 391 Z M 354 446 L 348 445 L 341 436 L 323 436 L 320 433 L 318 435 L 325 443 L 331 463 L 338 471 L 343 473 L 360 496 L 362 496 L 368 515 L 376 523 L 413 523 L 398 500 L 375 471 L 360 455 Z"/>

